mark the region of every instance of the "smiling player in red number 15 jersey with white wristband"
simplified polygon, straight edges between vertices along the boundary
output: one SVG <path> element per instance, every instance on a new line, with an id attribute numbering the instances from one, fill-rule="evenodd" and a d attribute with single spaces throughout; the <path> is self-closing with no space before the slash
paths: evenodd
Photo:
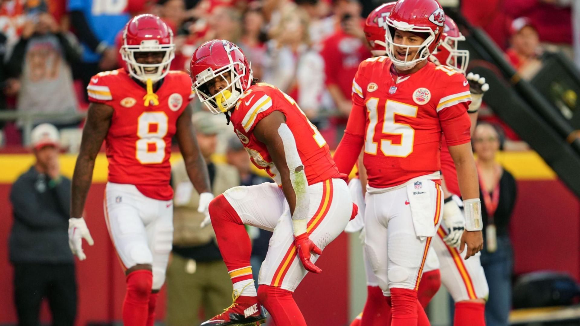
<path id="1" fill-rule="evenodd" d="M 461 249 L 467 244 L 467 259 L 483 247 L 466 112 L 470 93 L 461 73 L 427 60 L 445 21 L 435 0 L 398 1 L 385 21 L 388 58 L 368 59 L 358 68 L 353 110 L 335 160 L 341 172 L 350 171 L 364 146 L 365 250 L 380 288 L 390 295 L 391 324 L 423 325 L 429 321 L 416 291 L 441 218 L 442 135 L 465 200 Z"/>

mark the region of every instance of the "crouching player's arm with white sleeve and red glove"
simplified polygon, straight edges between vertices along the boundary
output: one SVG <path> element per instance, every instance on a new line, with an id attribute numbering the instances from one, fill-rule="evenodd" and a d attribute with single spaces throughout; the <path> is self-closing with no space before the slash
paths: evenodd
<path id="1" fill-rule="evenodd" d="M 308 180 L 296 148 L 296 140 L 285 122 L 283 113 L 273 111 L 256 124 L 253 135 L 266 145 L 280 173 L 282 191 L 292 214 L 294 239 L 300 261 L 306 270 L 320 273 L 322 270 L 310 261 L 310 252 L 320 255 L 322 251 L 314 245 L 307 233 L 310 207 Z"/>

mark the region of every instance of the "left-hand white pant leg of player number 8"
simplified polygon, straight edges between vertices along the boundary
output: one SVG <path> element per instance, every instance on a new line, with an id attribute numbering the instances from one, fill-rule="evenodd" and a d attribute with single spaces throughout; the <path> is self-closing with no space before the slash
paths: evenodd
<path id="1" fill-rule="evenodd" d="M 145 223 L 140 215 L 143 207 L 150 207 L 151 198 L 131 184 L 107 183 L 104 213 L 107 229 L 125 269 L 153 263 L 147 242 Z"/>

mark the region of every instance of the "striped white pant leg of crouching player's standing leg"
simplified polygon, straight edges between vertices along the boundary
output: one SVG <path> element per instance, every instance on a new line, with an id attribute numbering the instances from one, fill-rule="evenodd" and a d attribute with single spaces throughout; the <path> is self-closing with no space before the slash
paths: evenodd
<path id="1" fill-rule="evenodd" d="M 310 195 L 309 238 L 318 248 L 324 248 L 345 229 L 352 212 L 352 201 L 346 182 L 342 179 L 326 180 L 312 184 Z M 288 207 L 286 205 L 286 207 Z M 311 253 L 310 260 L 316 262 L 318 255 Z M 274 229 L 268 253 L 260 269 L 259 284 L 271 285 L 294 291 L 306 269 L 296 255 L 292 216 L 288 209 Z"/>

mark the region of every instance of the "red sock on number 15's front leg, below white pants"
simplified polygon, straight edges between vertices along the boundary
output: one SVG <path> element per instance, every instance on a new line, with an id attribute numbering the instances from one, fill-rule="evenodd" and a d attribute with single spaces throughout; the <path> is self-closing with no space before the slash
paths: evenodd
<path id="1" fill-rule="evenodd" d="M 427 326 L 429 320 L 412 289 L 391 288 L 391 326 Z M 364 314 L 363 314 L 364 316 Z"/>

